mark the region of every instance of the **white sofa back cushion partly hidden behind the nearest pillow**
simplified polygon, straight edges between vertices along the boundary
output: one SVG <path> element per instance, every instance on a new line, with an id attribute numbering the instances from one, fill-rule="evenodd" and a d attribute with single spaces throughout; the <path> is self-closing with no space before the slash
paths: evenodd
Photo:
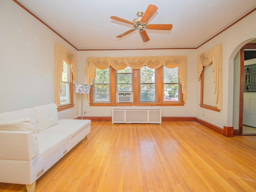
<path id="1" fill-rule="evenodd" d="M 4 112 L 0 113 L 0 119 L 18 119 L 23 117 L 29 117 L 33 124 L 34 128 L 36 129 L 36 116 L 34 113 L 33 108 L 21 109 L 16 111 Z"/>

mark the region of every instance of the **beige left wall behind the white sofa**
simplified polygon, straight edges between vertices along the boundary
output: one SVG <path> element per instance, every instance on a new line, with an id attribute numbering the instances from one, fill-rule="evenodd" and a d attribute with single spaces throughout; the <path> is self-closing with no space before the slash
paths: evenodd
<path id="1" fill-rule="evenodd" d="M 13 1 L 0 1 L 0 23 L 0 112 L 54 103 L 54 42 L 78 51 Z M 75 118 L 74 102 L 59 118 Z"/>

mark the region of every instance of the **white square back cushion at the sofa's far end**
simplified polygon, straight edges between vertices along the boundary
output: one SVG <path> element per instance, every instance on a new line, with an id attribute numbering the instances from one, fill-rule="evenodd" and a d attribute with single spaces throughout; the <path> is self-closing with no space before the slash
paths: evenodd
<path id="1" fill-rule="evenodd" d="M 33 107 L 36 116 L 37 132 L 58 124 L 58 111 L 55 103 Z"/>

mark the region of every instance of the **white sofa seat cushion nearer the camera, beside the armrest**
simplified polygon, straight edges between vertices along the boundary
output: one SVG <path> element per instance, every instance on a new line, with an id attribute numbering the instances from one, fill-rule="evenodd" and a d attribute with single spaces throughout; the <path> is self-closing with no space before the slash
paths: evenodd
<path id="1" fill-rule="evenodd" d="M 41 131 L 37 133 L 39 154 L 42 160 L 53 154 L 68 142 L 68 134 L 53 131 Z"/>

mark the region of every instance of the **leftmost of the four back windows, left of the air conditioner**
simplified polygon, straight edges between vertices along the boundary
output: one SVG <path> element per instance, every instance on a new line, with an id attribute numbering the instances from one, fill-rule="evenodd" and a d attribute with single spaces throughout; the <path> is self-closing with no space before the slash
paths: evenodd
<path id="1" fill-rule="evenodd" d="M 93 102 L 110 102 L 110 68 L 97 69 L 93 86 Z"/>

